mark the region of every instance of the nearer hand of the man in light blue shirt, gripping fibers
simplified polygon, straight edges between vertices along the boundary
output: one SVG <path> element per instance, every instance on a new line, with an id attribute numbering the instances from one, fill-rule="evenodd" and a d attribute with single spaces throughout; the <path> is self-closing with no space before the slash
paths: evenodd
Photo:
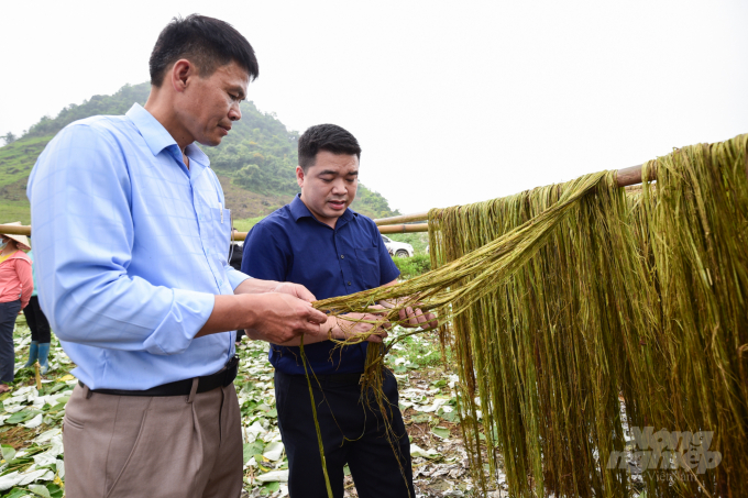
<path id="1" fill-rule="evenodd" d="M 280 344 L 301 334 L 320 335 L 327 314 L 289 294 L 268 292 L 254 296 L 258 320 L 246 329 L 250 339 Z"/>

